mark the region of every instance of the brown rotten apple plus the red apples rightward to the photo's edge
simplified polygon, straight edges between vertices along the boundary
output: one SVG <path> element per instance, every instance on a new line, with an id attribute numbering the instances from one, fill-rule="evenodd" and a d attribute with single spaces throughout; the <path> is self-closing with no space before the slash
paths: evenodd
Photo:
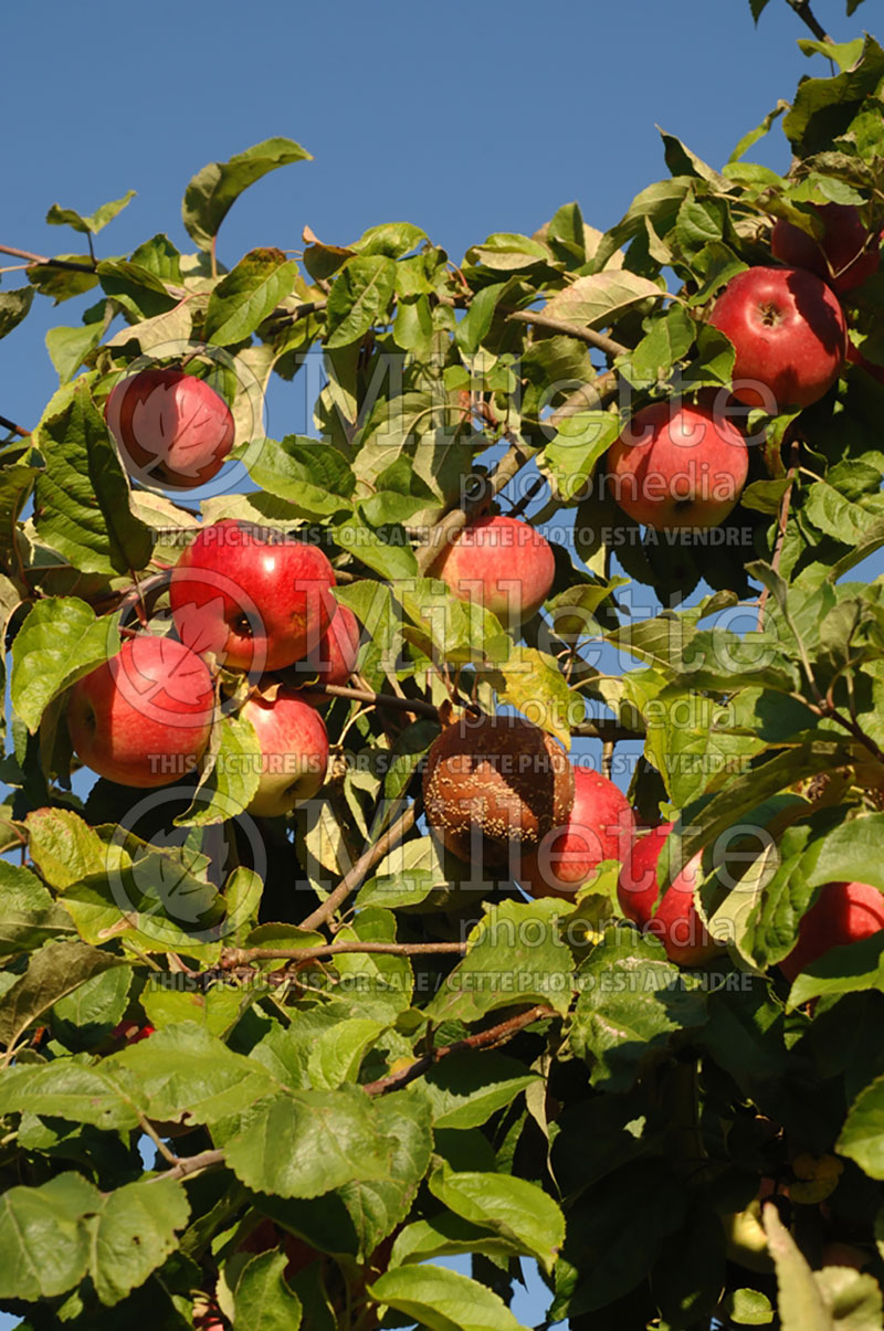
<path id="1" fill-rule="evenodd" d="M 619 787 L 572 765 L 558 741 L 525 717 L 465 715 L 447 725 L 429 753 L 423 803 L 446 851 L 491 870 L 511 869 L 515 860 L 517 878 L 534 897 L 572 898 L 602 861 L 620 861 L 620 910 L 659 938 L 670 961 L 700 966 L 720 953 L 694 904 L 702 855 L 660 890 L 658 862 L 675 824 L 639 831 Z M 793 981 L 831 948 L 883 928 L 877 888 L 829 882 L 780 968 Z"/>

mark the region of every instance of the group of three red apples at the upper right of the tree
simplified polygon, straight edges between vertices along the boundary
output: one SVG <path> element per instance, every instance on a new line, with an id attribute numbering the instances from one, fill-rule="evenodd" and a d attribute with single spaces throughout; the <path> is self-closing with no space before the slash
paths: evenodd
<path id="1" fill-rule="evenodd" d="M 817 402 L 845 359 L 884 379 L 849 342 L 839 299 L 877 270 L 881 237 L 868 234 L 852 205 L 815 212 L 819 242 L 780 218 L 771 252 L 784 266 L 738 273 L 708 315 L 734 343 L 732 395 L 768 414 Z M 712 406 L 658 402 L 638 411 L 608 450 L 607 474 L 619 506 L 644 526 L 715 527 L 740 498 L 748 450 Z"/>

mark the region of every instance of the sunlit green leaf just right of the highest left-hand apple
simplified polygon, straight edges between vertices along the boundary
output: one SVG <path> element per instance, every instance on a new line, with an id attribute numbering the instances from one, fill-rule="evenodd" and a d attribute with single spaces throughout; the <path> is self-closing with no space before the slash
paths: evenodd
<path id="1" fill-rule="evenodd" d="M 257 486 L 288 499 L 297 516 L 330 518 L 353 507 L 355 478 L 332 445 L 290 434 L 282 443 L 261 439 L 244 445 L 232 457 L 242 458 Z"/>

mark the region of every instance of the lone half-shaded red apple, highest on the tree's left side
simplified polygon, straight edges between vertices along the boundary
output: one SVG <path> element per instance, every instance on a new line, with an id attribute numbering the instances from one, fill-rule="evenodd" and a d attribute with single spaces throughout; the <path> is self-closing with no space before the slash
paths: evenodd
<path id="1" fill-rule="evenodd" d="M 233 447 L 226 402 L 184 370 L 140 370 L 120 379 L 104 415 L 126 465 L 148 484 L 202 486 Z"/>

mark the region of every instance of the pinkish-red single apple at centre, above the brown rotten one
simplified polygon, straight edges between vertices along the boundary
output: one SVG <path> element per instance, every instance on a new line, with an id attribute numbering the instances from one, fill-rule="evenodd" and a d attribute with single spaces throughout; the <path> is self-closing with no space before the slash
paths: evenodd
<path id="1" fill-rule="evenodd" d="M 430 572 L 459 600 L 471 600 L 501 620 L 521 624 L 546 600 L 555 578 L 552 548 L 518 518 L 477 518 L 435 559 Z"/>

